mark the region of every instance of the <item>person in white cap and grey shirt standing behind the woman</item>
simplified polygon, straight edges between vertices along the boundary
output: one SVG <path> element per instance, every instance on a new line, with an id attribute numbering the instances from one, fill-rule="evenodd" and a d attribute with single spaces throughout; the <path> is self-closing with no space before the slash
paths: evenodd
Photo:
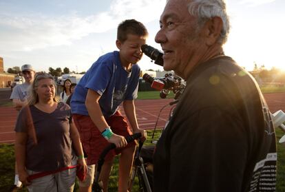
<path id="1" fill-rule="evenodd" d="M 25 64 L 21 67 L 21 75 L 25 79 L 25 83 L 16 85 L 12 89 L 12 94 L 10 100 L 12 100 L 12 105 L 16 111 L 20 111 L 24 105 L 27 104 L 28 98 L 28 87 L 34 81 L 34 69 L 32 65 Z M 15 164 L 15 177 L 14 177 L 14 186 L 13 188 L 21 188 L 21 182 L 19 180 L 17 165 Z"/>

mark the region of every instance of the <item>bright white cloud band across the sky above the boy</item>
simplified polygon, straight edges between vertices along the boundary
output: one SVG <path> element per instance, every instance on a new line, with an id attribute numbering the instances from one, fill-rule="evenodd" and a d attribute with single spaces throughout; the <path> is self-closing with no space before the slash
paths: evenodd
<path id="1" fill-rule="evenodd" d="M 81 17 L 76 12 L 51 17 L 39 12 L 15 16 L 0 14 L 0 51 L 32 51 L 50 46 L 70 45 L 92 33 L 116 29 L 124 19 L 147 23 L 158 19 L 165 0 L 114 0 L 105 12 Z"/>

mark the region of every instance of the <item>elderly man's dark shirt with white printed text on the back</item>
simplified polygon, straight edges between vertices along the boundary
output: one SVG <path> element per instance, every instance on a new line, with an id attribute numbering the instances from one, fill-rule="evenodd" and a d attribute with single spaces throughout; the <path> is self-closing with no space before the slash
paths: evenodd
<path id="1" fill-rule="evenodd" d="M 191 72 L 154 154 L 155 191 L 275 191 L 275 132 L 252 76 L 220 56 Z"/>

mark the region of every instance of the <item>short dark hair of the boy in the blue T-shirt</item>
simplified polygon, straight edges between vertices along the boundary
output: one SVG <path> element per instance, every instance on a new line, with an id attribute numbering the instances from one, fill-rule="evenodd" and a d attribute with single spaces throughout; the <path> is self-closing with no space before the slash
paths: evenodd
<path id="1" fill-rule="evenodd" d="M 128 34 L 147 36 L 149 33 L 147 32 L 145 25 L 139 21 L 136 21 L 135 19 L 127 19 L 118 25 L 117 39 L 123 43 L 127 40 Z"/>

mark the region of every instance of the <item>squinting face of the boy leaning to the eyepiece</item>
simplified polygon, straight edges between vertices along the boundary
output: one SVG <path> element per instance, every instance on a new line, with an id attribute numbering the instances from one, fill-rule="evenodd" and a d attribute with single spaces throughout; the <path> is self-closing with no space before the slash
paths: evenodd
<path id="1" fill-rule="evenodd" d="M 142 50 L 140 47 L 145 45 L 146 36 L 138 36 L 135 34 L 127 34 L 127 40 L 123 43 L 119 40 L 116 45 L 120 50 L 120 61 L 122 65 L 135 64 L 142 58 Z"/>

